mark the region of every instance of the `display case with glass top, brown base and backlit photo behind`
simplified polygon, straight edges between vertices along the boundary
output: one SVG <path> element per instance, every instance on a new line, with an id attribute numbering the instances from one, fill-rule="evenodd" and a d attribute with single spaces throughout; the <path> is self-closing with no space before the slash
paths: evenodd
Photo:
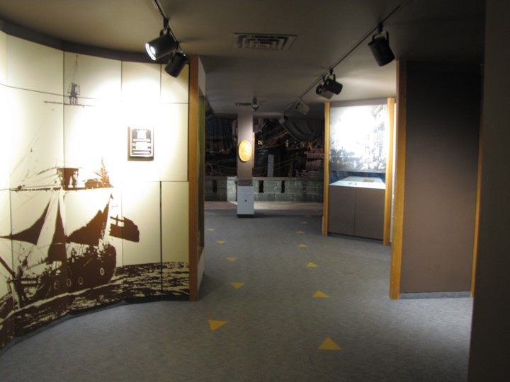
<path id="1" fill-rule="evenodd" d="M 389 146 L 385 101 L 331 105 L 328 232 L 382 239 Z"/>

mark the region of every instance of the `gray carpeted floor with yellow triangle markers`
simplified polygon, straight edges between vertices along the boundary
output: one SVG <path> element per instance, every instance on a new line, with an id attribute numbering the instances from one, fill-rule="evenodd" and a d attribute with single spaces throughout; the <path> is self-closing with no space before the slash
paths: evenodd
<path id="1" fill-rule="evenodd" d="M 391 301 L 389 248 L 321 236 L 317 204 L 266 207 L 208 204 L 200 301 L 64 320 L 1 354 L 0 380 L 466 381 L 472 299 Z"/>

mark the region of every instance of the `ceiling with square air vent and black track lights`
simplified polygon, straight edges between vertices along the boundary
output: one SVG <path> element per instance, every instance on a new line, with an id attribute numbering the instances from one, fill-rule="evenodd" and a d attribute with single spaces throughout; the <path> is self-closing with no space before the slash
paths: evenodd
<path id="1" fill-rule="evenodd" d="M 367 47 L 371 31 L 390 14 L 384 26 L 397 59 L 483 59 L 484 0 L 159 1 L 183 51 L 201 57 L 216 115 L 250 110 L 234 104 L 253 96 L 261 103 L 256 116 L 278 117 L 300 96 L 311 115 L 320 115 L 326 99 L 315 94 L 315 84 L 339 60 L 334 73 L 344 88 L 331 101 L 395 96 L 395 62 L 378 66 Z M 153 0 L 1 0 L 0 20 L 128 52 L 144 52 L 163 27 Z M 289 50 L 241 50 L 234 33 L 297 37 Z"/>

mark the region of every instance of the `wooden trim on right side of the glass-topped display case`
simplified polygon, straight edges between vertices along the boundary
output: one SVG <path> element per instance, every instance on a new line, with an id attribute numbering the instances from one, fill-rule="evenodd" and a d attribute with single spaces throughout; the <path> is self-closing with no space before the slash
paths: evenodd
<path id="1" fill-rule="evenodd" d="M 390 144 L 388 146 L 386 161 L 386 190 L 385 190 L 385 212 L 384 231 L 382 233 L 382 244 L 391 243 L 392 225 L 392 197 L 393 197 L 393 148 L 395 139 L 395 98 L 387 99 L 388 125 L 390 127 Z"/>

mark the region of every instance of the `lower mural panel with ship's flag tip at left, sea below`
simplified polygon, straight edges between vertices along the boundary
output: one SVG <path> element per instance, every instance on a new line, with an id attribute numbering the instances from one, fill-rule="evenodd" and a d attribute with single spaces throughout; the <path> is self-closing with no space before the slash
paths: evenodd
<path id="1" fill-rule="evenodd" d="M 123 241 L 125 297 L 147 297 L 162 293 L 159 182 L 123 183 L 125 219 L 140 231 L 139 241 Z"/>

